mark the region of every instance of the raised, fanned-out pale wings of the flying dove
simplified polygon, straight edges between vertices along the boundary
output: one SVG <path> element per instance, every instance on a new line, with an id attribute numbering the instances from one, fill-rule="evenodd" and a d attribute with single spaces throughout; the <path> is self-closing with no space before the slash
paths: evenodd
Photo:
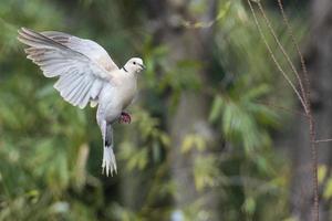
<path id="1" fill-rule="evenodd" d="M 54 87 L 69 103 L 84 108 L 96 99 L 103 85 L 118 70 L 97 43 L 61 32 L 38 33 L 22 28 L 18 40 L 29 45 L 28 59 L 38 64 L 44 76 L 59 76 Z"/>

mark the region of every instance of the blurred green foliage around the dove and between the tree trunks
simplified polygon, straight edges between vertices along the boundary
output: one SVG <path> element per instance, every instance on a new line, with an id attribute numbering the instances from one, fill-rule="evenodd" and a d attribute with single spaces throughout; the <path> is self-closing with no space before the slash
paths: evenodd
<path id="1" fill-rule="evenodd" d="M 290 106 L 292 99 L 243 3 L 220 1 L 212 22 L 217 33 L 210 77 L 216 81 L 203 85 L 197 77 L 199 61 L 169 65 L 172 52 L 155 44 L 139 2 L 0 2 L 0 220 L 169 220 L 178 192 L 169 173 L 173 147 L 166 124 L 172 112 L 167 110 L 176 108 L 183 91 L 203 88 L 209 88 L 212 101 L 207 120 L 227 147 L 195 159 L 197 191 L 218 188 L 224 220 L 289 218 L 289 161 L 272 148 L 271 137 L 289 116 L 267 104 Z M 191 8 L 197 13 L 205 10 L 204 3 Z M 269 15 L 289 45 L 280 17 L 272 11 Z M 292 22 L 301 38 L 305 27 Z M 93 39 L 120 65 L 132 55 L 144 59 L 141 95 L 131 108 L 134 122 L 115 126 L 117 176 L 101 175 L 95 109 L 80 110 L 62 101 L 52 87 L 54 81 L 25 60 L 15 40 L 20 27 Z M 272 38 L 268 40 L 273 45 Z M 203 137 L 188 134 L 181 154 L 209 148 Z M 331 187 L 329 182 L 326 198 Z M 204 220 L 197 215 L 208 213 L 200 200 L 185 210 L 186 220 Z"/>

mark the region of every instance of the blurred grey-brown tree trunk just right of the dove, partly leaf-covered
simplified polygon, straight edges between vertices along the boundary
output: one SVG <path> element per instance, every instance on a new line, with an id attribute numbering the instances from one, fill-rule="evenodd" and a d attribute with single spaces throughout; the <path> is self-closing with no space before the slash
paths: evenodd
<path id="1" fill-rule="evenodd" d="M 157 39 L 168 46 L 169 65 L 175 67 L 179 61 L 206 61 L 204 57 L 210 53 L 210 42 L 212 42 L 212 28 L 197 30 L 185 28 L 181 21 L 206 22 L 216 17 L 217 1 L 207 1 L 207 12 L 204 15 L 193 15 L 188 11 L 190 1 L 168 0 L 158 7 L 154 0 L 147 1 L 151 9 L 151 17 L 157 28 Z M 159 12 L 154 11 L 158 9 Z M 195 71 L 194 71 L 195 72 Z M 180 74 L 180 73 L 179 73 Z M 196 74 L 196 73 L 193 73 Z M 208 72 L 206 69 L 197 73 L 199 82 L 206 85 Z M 190 84 L 190 83 L 189 83 Z M 210 128 L 208 116 L 208 97 L 201 91 L 184 88 L 174 112 L 168 112 L 168 130 L 172 139 L 170 150 L 170 173 L 176 185 L 175 206 L 183 212 L 197 200 L 203 200 L 199 209 L 208 211 L 208 220 L 220 220 L 218 215 L 218 194 L 215 189 L 198 192 L 193 177 L 193 165 L 198 156 L 206 155 L 209 150 L 193 150 L 188 154 L 181 152 L 181 146 L 187 135 L 197 135 L 204 140 L 208 140 L 210 148 L 216 145 L 212 129 Z M 195 214 L 196 215 L 196 214 Z M 200 219 L 196 217 L 196 219 Z"/>

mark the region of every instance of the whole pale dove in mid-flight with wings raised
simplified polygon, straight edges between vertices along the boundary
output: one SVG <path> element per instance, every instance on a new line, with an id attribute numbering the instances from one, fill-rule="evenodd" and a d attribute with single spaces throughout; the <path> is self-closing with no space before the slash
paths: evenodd
<path id="1" fill-rule="evenodd" d="M 96 120 L 103 136 L 102 172 L 116 170 L 113 152 L 112 124 L 129 123 L 124 109 L 137 91 L 137 74 L 145 69 L 142 59 L 133 57 L 118 69 L 107 52 L 96 42 L 56 31 L 22 28 L 18 40 L 30 48 L 28 59 L 38 64 L 46 77 L 59 77 L 54 84 L 61 96 L 74 106 L 96 106 Z"/>

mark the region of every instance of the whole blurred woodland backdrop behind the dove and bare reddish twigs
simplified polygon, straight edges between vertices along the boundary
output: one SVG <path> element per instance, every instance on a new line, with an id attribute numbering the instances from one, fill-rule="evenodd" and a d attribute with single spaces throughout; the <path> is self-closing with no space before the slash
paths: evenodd
<path id="1" fill-rule="evenodd" d="M 278 1 L 261 2 L 300 70 Z M 318 138 L 332 138 L 332 1 L 283 3 Z M 116 176 L 101 172 L 96 109 L 61 98 L 25 59 L 21 27 L 94 40 L 118 66 L 143 57 L 133 122 L 115 125 Z M 246 0 L 1 0 L 0 30 L 0 220 L 311 220 L 308 123 Z M 319 144 L 322 221 L 331 145 Z"/>

